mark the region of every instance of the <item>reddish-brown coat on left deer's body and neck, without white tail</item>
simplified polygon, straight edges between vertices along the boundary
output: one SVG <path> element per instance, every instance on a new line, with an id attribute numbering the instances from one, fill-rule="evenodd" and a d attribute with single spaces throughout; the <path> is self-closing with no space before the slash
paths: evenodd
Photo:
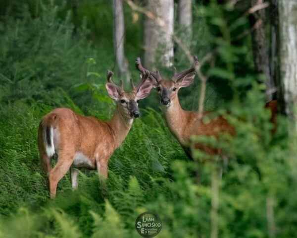
<path id="1" fill-rule="evenodd" d="M 49 176 L 51 197 L 55 196 L 57 183 L 70 169 L 77 152 L 90 159 L 92 166 L 87 169 L 99 167 L 99 175 L 106 178 L 108 159 L 127 136 L 131 124 L 132 119 L 123 117 L 118 108 L 109 121 L 83 117 L 67 108 L 57 108 L 47 114 L 39 126 L 38 145 L 43 169 Z M 58 161 L 53 169 L 44 148 L 43 128 L 46 126 L 53 126 L 59 132 Z"/>

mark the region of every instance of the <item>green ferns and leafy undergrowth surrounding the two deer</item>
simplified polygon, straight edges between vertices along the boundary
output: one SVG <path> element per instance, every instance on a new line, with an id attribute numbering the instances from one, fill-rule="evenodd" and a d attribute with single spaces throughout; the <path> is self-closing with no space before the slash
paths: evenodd
<path id="1" fill-rule="evenodd" d="M 247 35 L 240 43 L 232 40 L 245 31 L 247 20 L 226 17 L 228 5 L 196 7 L 194 39 L 199 40 L 192 48 L 199 58 L 216 49 L 215 66 L 202 68 L 209 77 L 204 108 L 215 110 L 211 117 L 223 115 L 236 128 L 234 138 L 193 140 L 223 149 L 226 158 L 195 150 L 191 161 L 165 125 L 152 92 L 140 104 L 141 118 L 134 120 L 109 160 L 108 195 L 101 195 L 96 171 L 86 170 L 79 173 L 78 189 L 72 190 L 68 173 L 58 184 L 56 199 L 50 200 L 37 147 L 41 118 L 56 107 L 103 120 L 113 114 L 115 105 L 104 87 L 107 69 L 115 71 L 117 81 L 112 24 L 100 25 L 99 32 L 90 27 L 94 9 L 101 9 L 99 18 L 104 19 L 111 8 L 99 1 L 90 9 L 84 1 L 73 15 L 67 3 L 31 3 L 16 7 L 12 1 L 0 19 L 1 238 L 139 237 L 135 220 L 145 211 L 161 218 L 159 238 L 209 237 L 214 221 L 224 238 L 296 236 L 295 137 L 288 140 L 282 116 L 277 118 L 277 131 L 271 133 L 264 84 L 253 72 L 250 39 Z M 131 10 L 125 7 L 129 15 Z M 83 17 L 86 12 L 92 12 L 89 18 Z M 99 35 L 104 30 L 110 39 Z M 131 23 L 126 35 L 136 81 L 141 29 Z M 178 70 L 189 66 L 182 54 L 175 56 Z M 173 73 L 160 70 L 168 76 Z M 199 85 L 196 78 L 181 90 L 183 108 L 198 109 Z M 216 182 L 218 193 L 212 189 Z M 217 212 L 213 212 L 214 197 L 219 199 Z"/>

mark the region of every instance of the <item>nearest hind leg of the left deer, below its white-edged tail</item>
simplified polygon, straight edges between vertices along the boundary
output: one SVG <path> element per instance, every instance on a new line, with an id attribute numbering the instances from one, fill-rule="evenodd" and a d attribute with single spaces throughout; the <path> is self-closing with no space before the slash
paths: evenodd
<path id="1" fill-rule="evenodd" d="M 62 154 L 58 156 L 58 162 L 49 172 L 50 198 L 55 198 L 58 181 L 60 181 L 63 178 L 63 176 L 67 173 L 72 162 L 73 154 Z"/>

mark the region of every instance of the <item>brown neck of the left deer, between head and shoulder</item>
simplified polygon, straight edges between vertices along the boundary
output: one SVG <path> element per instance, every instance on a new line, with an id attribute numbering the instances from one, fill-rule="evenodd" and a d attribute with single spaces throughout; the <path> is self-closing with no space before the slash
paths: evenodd
<path id="1" fill-rule="evenodd" d="M 117 148 L 128 135 L 132 122 L 133 119 L 123 115 L 117 106 L 112 119 L 107 121 L 115 148 Z"/>

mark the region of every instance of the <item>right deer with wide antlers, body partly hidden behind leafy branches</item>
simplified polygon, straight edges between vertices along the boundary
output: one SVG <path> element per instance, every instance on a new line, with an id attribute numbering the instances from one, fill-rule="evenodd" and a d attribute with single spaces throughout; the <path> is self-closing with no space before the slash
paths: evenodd
<path id="1" fill-rule="evenodd" d="M 195 65 L 198 65 L 197 57 L 194 59 Z M 174 76 L 170 80 L 164 80 L 158 71 L 151 72 L 145 69 L 139 58 L 137 58 L 135 65 L 141 72 L 141 75 L 149 72 L 149 78 L 153 83 L 153 87 L 157 89 L 160 96 L 167 126 L 190 158 L 192 158 L 190 150 L 191 135 L 217 137 L 219 133 L 235 134 L 234 128 L 223 117 L 218 117 L 209 123 L 204 123 L 203 118 L 211 112 L 203 112 L 202 119 L 198 123 L 198 112 L 188 112 L 181 108 L 177 94 L 180 88 L 188 87 L 193 82 L 195 78 L 195 66 L 180 73 L 177 73 L 174 68 Z M 266 106 L 267 108 L 271 108 L 272 114 L 276 113 L 274 110 L 276 109 L 275 105 L 276 103 L 274 102 Z M 274 118 L 275 116 L 273 115 L 273 120 Z M 202 144 L 196 144 L 195 147 L 208 154 L 220 153 L 220 151 Z"/>

